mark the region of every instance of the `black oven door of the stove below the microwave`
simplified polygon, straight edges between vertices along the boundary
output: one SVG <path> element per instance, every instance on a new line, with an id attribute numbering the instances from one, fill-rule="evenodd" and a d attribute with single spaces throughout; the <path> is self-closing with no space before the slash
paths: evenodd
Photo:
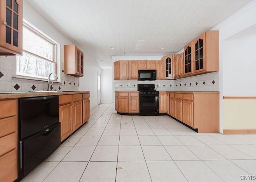
<path id="1" fill-rule="evenodd" d="M 158 115 L 159 96 L 140 96 L 140 115 Z"/>

